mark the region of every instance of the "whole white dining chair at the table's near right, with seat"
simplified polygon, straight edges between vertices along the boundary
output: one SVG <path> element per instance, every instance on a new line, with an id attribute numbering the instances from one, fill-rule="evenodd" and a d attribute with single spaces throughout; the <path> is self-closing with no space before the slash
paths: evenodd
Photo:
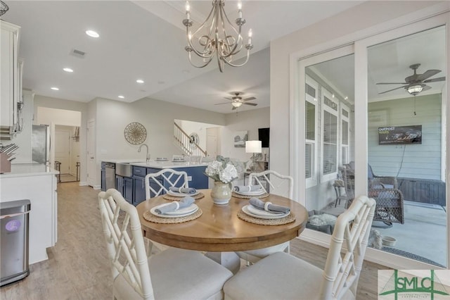
<path id="1" fill-rule="evenodd" d="M 323 270 L 277 252 L 226 282 L 225 299 L 356 299 L 374 212 L 375 200 L 359 196 L 339 215 Z"/>

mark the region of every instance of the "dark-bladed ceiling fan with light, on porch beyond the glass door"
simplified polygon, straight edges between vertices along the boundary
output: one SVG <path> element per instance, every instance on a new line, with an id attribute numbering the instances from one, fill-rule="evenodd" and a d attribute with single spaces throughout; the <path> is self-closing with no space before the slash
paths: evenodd
<path id="1" fill-rule="evenodd" d="M 441 70 L 427 70 L 423 74 L 417 74 L 417 69 L 419 68 L 420 63 L 414 63 L 413 65 L 410 65 L 409 68 L 411 68 L 414 71 L 413 75 L 410 75 L 405 78 L 405 82 L 378 82 L 377 85 L 402 85 L 401 87 L 396 87 L 395 89 L 401 89 L 402 87 L 406 89 L 406 92 L 409 92 L 409 94 L 416 96 L 420 92 L 426 91 L 428 89 L 431 89 L 430 86 L 426 85 L 428 82 L 437 82 L 437 81 L 444 81 L 444 77 L 437 77 L 428 79 L 437 73 L 441 72 Z M 381 92 L 379 94 L 385 94 L 387 92 L 392 92 L 395 89 L 389 89 L 385 92 Z"/>

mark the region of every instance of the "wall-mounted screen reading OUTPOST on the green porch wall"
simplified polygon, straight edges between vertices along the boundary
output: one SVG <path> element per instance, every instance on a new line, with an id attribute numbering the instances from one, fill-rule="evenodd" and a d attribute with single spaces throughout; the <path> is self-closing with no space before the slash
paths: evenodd
<path id="1" fill-rule="evenodd" d="M 378 144 L 422 144 L 422 125 L 378 127 Z"/>

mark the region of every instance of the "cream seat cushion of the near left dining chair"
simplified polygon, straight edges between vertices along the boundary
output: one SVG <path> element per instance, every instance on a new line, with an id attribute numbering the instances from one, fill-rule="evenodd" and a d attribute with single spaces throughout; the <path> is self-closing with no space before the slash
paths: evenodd
<path id="1" fill-rule="evenodd" d="M 198 251 L 176 248 L 150 256 L 148 265 L 155 299 L 222 299 L 224 282 L 233 275 Z M 142 299 L 122 276 L 115 280 L 115 291 L 122 299 Z"/>

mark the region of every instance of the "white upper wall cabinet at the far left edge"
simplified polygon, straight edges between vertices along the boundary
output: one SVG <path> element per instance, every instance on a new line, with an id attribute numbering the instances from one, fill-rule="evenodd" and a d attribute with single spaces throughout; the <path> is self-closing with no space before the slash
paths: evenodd
<path id="1" fill-rule="evenodd" d="M 18 102 L 22 101 L 22 65 L 18 59 L 20 27 L 0 20 L 0 126 L 1 138 L 11 139 L 18 131 Z"/>

